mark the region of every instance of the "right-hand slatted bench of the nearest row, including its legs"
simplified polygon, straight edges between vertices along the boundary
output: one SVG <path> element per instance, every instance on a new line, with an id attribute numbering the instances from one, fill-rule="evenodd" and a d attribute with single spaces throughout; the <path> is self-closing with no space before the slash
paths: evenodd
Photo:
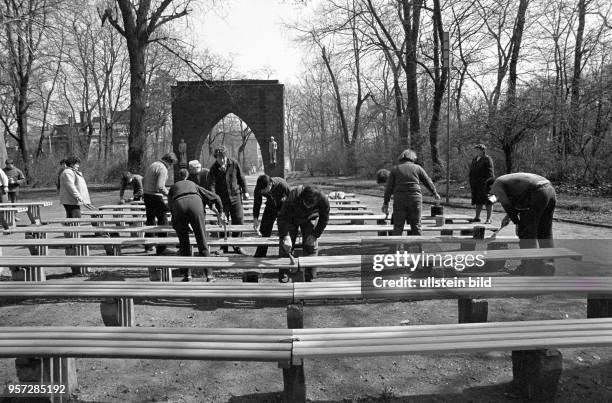
<path id="1" fill-rule="evenodd" d="M 292 391 L 306 399 L 303 360 L 424 353 L 512 351 L 514 386 L 537 401 L 554 399 L 562 371 L 557 348 L 612 346 L 612 319 L 295 329 Z"/>

